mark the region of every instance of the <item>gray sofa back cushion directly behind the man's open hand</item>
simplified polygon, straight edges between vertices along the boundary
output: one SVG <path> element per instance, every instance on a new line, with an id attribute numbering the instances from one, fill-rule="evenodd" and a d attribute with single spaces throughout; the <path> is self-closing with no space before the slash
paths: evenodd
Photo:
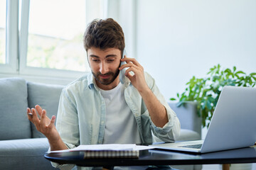
<path id="1" fill-rule="evenodd" d="M 51 118 L 57 115 L 60 93 L 63 86 L 52 84 L 39 84 L 29 82 L 28 85 L 28 107 L 34 108 L 36 105 L 46 110 L 46 115 Z M 41 132 L 36 130 L 35 125 L 31 123 L 32 137 L 45 137 Z"/>

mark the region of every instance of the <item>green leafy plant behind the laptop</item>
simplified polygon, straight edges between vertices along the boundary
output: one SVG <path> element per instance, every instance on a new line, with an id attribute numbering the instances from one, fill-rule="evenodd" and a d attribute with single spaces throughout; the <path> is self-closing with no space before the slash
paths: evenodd
<path id="1" fill-rule="evenodd" d="M 256 73 L 245 74 L 236 67 L 233 69 L 223 69 L 220 64 L 210 68 L 205 78 L 192 77 L 186 83 L 186 89 L 177 98 L 170 98 L 171 101 L 178 99 L 177 106 L 183 105 L 186 101 L 196 101 L 198 103 L 198 116 L 202 118 L 203 127 L 210 124 L 216 103 L 223 86 L 250 86 L 256 84 Z"/>

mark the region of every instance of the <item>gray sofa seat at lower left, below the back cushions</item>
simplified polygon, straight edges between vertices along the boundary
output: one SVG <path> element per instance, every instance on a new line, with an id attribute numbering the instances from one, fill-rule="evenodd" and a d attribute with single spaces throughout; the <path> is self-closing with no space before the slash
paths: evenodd
<path id="1" fill-rule="evenodd" d="M 0 169 L 55 169 L 43 157 L 48 148 L 46 138 L 0 141 Z"/>

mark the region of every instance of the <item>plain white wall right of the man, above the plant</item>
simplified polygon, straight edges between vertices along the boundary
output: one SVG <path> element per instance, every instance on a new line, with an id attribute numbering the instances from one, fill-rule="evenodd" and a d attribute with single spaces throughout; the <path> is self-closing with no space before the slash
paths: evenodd
<path id="1" fill-rule="evenodd" d="M 210 67 L 256 72 L 255 0 L 138 0 L 137 60 L 166 99 Z"/>

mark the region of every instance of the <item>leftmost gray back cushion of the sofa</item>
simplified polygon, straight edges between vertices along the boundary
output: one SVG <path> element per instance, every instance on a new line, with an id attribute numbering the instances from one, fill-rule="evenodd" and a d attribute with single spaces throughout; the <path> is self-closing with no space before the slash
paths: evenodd
<path id="1" fill-rule="evenodd" d="M 31 137 L 31 125 L 26 115 L 27 96 L 24 79 L 0 79 L 0 140 Z"/>

